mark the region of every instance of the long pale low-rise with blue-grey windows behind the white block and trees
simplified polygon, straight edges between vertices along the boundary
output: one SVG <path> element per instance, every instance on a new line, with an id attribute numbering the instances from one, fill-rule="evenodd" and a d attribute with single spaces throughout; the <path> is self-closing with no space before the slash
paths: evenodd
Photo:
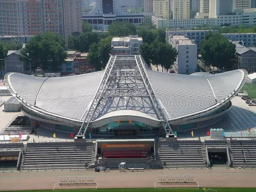
<path id="1" fill-rule="evenodd" d="M 190 40 L 194 40 L 197 44 L 197 49 L 200 50 L 202 46 L 202 40 L 206 34 L 211 32 L 217 32 L 217 30 L 179 30 L 179 31 L 166 31 L 166 43 L 169 42 L 170 36 L 186 36 Z"/>

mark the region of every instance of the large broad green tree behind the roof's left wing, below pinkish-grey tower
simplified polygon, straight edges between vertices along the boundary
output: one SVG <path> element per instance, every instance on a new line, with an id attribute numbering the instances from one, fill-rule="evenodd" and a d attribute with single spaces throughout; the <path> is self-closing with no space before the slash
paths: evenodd
<path id="1" fill-rule="evenodd" d="M 31 59 L 31 70 L 40 67 L 43 70 L 57 71 L 67 57 L 64 47 L 65 40 L 62 36 L 42 33 L 30 39 L 21 50 L 20 59 L 27 63 Z"/>

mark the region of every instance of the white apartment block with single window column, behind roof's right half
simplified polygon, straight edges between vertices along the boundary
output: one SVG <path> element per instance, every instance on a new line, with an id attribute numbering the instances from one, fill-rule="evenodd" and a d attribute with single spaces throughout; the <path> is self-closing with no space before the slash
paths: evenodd
<path id="1" fill-rule="evenodd" d="M 178 74 L 191 74 L 197 70 L 197 45 L 186 35 L 169 36 L 169 44 L 178 51 L 174 69 Z"/>

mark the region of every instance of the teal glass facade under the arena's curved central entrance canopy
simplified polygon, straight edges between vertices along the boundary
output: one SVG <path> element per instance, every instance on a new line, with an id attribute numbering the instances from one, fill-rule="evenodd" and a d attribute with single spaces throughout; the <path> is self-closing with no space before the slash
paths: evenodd
<path id="1" fill-rule="evenodd" d="M 112 122 L 104 126 L 94 128 L 93 134 L 114 136 L 136 136 L 142 134 L 156 134 L 158 127 L 152 127 L 141 122 Z"/>

